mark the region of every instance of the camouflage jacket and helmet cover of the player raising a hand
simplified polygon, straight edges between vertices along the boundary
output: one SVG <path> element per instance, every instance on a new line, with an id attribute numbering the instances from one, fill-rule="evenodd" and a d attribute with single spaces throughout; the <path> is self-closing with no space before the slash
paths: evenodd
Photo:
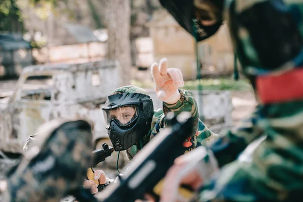
<path id="1" fill-rule="evenodd" d="M 125 93 L 125 92 L 137 92 L 141 94 L 146 94 L 146 90 L 139 88 L 137 86 L 123 86 L 114 90 L 111 94 Z M 188 90 L 179 90 L 181 98 L 176 104 L 169 105 L 163 102 L 163 109 L 158 109 L 154 111 L 153 121 L 151 122 L 150 131 L 143 138 L 142 147 L 149 142 L 151 138 L 157 135 L 161 130 L 163 130 L 169 123 L 166 123 L 165 116 L 169 112 L 174 112 L 175 115 L 180 114 L 181 112 L 187 111 L 191 112 L 192 117 L 196 119 L 194 126 L 194 133 L 191 135 L 191 138 L 188 138 L 184 142 L 184 152 L 190 151 L 199 145 L 207 145 L 211 140 L 215 140 L 219 135 L 210 131 L 207 126 L 198 118 L 198 109 L 196 100 L 193 98 L 193 95 Z M 127 149 L 126 153 L 128 159 L 131 160 L 138 152 L 137 145 L 133 145 Z"/>

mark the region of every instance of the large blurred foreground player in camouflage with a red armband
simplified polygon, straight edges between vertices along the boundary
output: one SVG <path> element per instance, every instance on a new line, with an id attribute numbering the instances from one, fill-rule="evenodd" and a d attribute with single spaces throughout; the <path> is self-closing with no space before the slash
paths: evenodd
<path id="1" fill-rule="evenodd" d="M 197 148 L 179 157 L 166 176 L 162 201 L 186 201 L 181 184 L 199 201 L 300 201 L 303 191 L 303 1 L 161 0 L 196 41 L 223 21 L 259 101 L 251 118 L 210 147 L 221 168 L 207 179 L 191 163 Z"/>

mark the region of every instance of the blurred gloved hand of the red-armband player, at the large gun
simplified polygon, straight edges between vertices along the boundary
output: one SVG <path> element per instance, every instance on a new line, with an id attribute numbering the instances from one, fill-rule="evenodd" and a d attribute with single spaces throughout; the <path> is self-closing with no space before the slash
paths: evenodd
<path id="1" fill-rule="evenodd" d="M 218 170 L 217 160 L 212 151 L 204 146 L 178 157 L 165 176 L 160 201 L 191 201 L 193 195 L 183 195 L 179 190 L 180 186 L 187 185 L 197 190 Z"/>

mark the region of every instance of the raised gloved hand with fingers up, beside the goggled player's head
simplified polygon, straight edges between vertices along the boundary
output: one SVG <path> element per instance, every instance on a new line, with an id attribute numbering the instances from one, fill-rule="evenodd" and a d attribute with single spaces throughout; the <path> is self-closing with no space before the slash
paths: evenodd
<path id="1" fill-rule="evenodd" d="M 167 104 L 177 103 L 181 96 L 178 88 L 184 85 L 181 71 L 177 68 L 167 69 L 166 58 L 161 59 L 160 65 L 151 65 L 150 69 L 158 98 Z"/>

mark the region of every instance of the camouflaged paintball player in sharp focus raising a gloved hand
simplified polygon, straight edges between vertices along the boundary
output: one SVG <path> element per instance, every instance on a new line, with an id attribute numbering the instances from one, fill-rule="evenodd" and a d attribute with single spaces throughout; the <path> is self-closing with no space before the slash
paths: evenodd
<path id="1" fill-rule="evenodd" d="M 174 112 L 175 115 L 184 111 L 191 112 L 192 117 L 196 119 L 193 125 L 194 133 L 183 143 L 184 153 L 218 138 L 218 135 L 210 131 L 198 118 L 193 94 L 178 89 L 184 85 L 179 69 L 167 69 L 167 59 L 162 59 L 159 65 L 151 65 L 151 74 L 156 84 L 157 96 L 163 101 L 163 109 L 154 110 L 146 90 L 132 85 L 115 89 L 107 98 L 103 108 L 104 118 L 116 151 L 126 150 L 128 161 L 131 161 L 151 138 L 169 125 L 165 119 L 169 112 Z M 104 173 L 100 170 L 98 172 Z M 98 176 L 95 176 L 95 179 L 97 178 Z M 92 186 L 92 180 L 90 183 L 85 180 L 85 185 Z"/>

